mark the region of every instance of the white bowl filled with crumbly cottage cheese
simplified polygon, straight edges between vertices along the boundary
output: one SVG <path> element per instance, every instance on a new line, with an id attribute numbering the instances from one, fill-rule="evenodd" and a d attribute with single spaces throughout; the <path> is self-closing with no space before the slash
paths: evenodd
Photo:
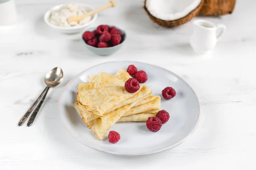
<path id="1" fill-rule="evenodd" d="M 97 13 L 84 18 L 79 23 L 69 23 L 67 18 L 82 15 L 92 10 L 94 9 L 90 6 L 81 3 L 61 4 L 48 10 L 44 14 L 44 21 L 58 32 L 66 34 L 79 33 L 96 20 Z"/>

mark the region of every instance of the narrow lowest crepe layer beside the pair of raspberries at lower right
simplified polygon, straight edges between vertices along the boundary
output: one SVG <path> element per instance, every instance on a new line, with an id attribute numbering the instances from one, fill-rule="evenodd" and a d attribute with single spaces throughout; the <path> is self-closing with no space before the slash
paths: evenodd
<path id="1" fill-rule="evenodd" d="M 129 116 L 122 116 L 117 122 L 146 122 L 148 117 L 155 117 L 156 113 L 138 113 Z"/>

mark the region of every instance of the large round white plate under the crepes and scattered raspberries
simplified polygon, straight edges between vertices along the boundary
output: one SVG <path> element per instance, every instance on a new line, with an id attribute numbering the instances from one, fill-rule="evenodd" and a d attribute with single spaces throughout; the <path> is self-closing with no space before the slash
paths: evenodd
<path id="1" fill-rule="evenodd" d="M 89 74 L 96 75 L 100 71 L 115 74 L 120 68 L 126 69 L 131 64 L 148 74 L 145 85 L 152 88 L 152 94 L 161 96 L 161 109 L 169 112 L 170 119 L 158 132 L 149 131 L 145 122 L 119 122 L 111 128 L 120 133 L 119 142 L 109 143 L 108 133 L 99 141 L 71 106 L 76 102 L 77 84 L 88 82 Z M 167 86 L 173 87 L 177 93 L 173 99 L 165 100 L 161 95 Z M 58 108 L 64 125 L 80 142 L 96 150 L 124 156 L 158 153 L 181 144 L 193 133 L 200 117 L 198 97 L 183 79 L 164 68 L 132 61 L 105 62 L 83 71 L 66 85 Z"/>

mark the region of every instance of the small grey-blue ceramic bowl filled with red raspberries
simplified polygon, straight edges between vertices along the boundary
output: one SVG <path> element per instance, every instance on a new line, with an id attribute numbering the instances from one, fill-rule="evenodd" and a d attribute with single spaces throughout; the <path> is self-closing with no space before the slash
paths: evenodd
<path id="1" fill-rule="evenodd" d="M 85 31 L 82 39 L 89 51 L 100 56 L 108 56 L 122 47 L 126 33 L 117 26 L 100 25 Z"/>

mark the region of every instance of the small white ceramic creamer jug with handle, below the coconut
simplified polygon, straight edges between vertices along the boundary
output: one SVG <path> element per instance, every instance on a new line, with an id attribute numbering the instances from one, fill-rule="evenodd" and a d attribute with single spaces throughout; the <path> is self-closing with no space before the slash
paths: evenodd
<path id="1" fill-rule="evenodd" d="M 226 27 L 222 24 L 215 26 L 206 20 L 195 20 L 193 22 L 194 31 L 190 39 L 190 45 L 198 54 L 207 54 L 216 45 L 217 40 L 223 35 Z M 218 32 L 216 35 L 216 32 Z"/>

